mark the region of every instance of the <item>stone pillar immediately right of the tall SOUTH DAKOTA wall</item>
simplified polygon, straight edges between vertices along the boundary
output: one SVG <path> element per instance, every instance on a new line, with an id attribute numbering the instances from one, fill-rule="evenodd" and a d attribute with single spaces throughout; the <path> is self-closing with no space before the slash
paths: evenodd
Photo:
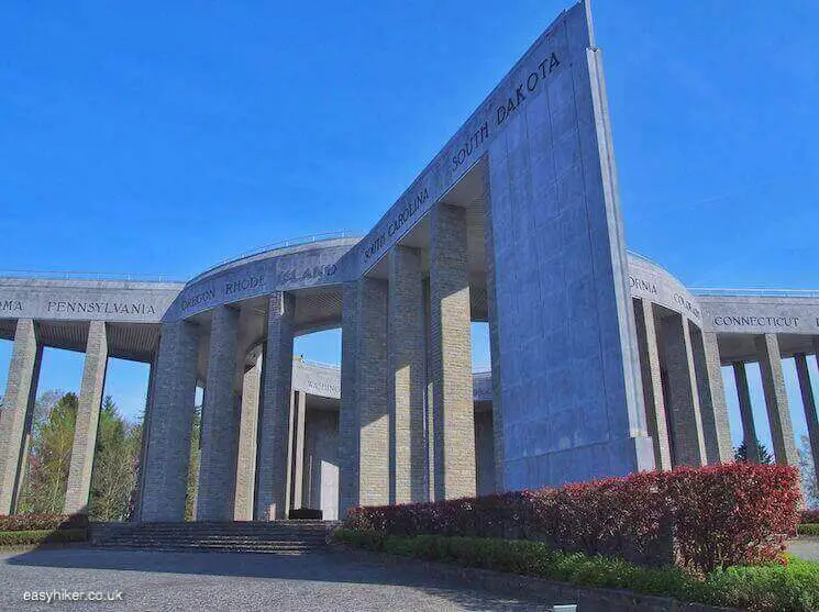
<path id="1" fill-rule="evenodd" d="M 657 469 L 672 469 L 668 425 L 665 418 L 665 399 L 660 369 L 660 349 L 654 319 L 654 304 L 634 300 L 634 321 L 643 380 L 643 398 L 649 435 L 654 442 L 654 463 Z"/>

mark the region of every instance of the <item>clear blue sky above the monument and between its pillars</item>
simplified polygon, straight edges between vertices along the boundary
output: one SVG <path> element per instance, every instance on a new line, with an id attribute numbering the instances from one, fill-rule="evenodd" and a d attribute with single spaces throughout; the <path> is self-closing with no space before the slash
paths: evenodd
<path id="1" fill-rule="evenodd" d="M 567 4 L 7 2 L 0 267 L 184 280 L 367 230 Z M 629 246 L 689 286 L 819 288 L 815 2 L 594 9 Z M 337 340 L 297 352 L 337 360 Z M 41 389 L 80 368 L 48 352 Z M 144 379 L 111 365 L 129 414 Z"/>

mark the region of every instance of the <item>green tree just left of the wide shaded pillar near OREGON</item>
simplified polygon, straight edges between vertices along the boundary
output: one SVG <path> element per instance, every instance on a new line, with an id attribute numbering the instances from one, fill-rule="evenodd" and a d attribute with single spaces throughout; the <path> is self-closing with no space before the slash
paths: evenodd
<path id="1" fill-rule="evenodd" d="M 91 472 L 90 519 L 124 521 L 136 483 L 141 427 L 120 415 L 111 396 L 106 396 L 97 429 L 97 448 Z"/>

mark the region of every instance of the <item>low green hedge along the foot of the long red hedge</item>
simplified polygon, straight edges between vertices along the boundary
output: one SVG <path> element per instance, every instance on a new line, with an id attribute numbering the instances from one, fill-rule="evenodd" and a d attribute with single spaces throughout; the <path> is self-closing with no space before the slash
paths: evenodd
<path id="1" fill-rule="evenodd" d="M 819 564 L 788 558 L 787 565 L 729 567 L 696 577 L 678 567 L 642 567 L 600 555 L 553 550 L 530 541 L 390 536 L 335 531 L 335 539 L 390 555 L 533 576 L 587 587 L 628 589 L 684 602 L 737 607 L 753 612 L 819 609 Z"/>

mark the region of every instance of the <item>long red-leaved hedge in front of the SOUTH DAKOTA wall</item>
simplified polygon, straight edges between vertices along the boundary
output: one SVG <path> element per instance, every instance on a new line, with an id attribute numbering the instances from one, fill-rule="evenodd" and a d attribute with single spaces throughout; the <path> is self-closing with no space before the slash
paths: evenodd
<path id="1" fill-rule="evenodd" d="M 796 469 L 737 463 L 682 467 L 560 489 L 356 508 L 344 525 L 387 535 L 500 537 L 652 566 L 781 560 L 799 519 Z"/>

